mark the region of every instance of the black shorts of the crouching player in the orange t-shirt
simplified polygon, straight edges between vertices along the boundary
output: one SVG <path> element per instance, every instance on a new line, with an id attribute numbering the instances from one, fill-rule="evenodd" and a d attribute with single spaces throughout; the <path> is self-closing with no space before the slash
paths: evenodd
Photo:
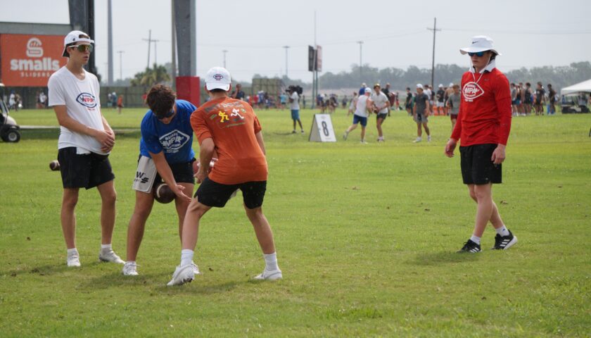
<path id="1" fill-rule="evenodd" d="M 242 199 L 246 208 L 254 209 L 262 206 L 262 199 L 265 198 L 267 190 L 267 181 L 246 182 L 240 184 L 220 184 L 208 178 L 205 178 L 195 192 L 199 203 L 205 206 L 215 206 L 223 208 L 236 189 L 241 189 Z"/>

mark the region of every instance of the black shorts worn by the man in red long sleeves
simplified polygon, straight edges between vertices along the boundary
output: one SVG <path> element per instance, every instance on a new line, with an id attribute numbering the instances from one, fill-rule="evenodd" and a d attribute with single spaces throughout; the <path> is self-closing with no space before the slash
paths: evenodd
<path id="1" fill-rule="evenodd" d="M 497 144 L 460 146 L 460 163 L 464 184 L 488 184 L 502 182 L 502 166 L 490 158 Z"/>

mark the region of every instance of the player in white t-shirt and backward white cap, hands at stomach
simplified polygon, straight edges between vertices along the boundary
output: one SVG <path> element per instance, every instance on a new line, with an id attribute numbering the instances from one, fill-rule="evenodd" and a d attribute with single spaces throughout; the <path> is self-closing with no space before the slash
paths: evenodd
<path id="1" fill-rule="evenodd" d="M 63 183 L 61 225 L 68 246 L 68 266 L 80 266 L 76 249 L 75 208 L 80 188 L 96 187 L 101 194 L 101 251 L 103 262 L 123 264 L 111 246 L 115 227 L 115 186 L 108 154 L 115 146 L 115 133 L 101 113 L 100 88 L 94 74 L 83 66 L 89 61 L 94 40 L 74 30 L 64 39 L 63 56 L 68 63 L 49 77 L 49 106 L 60 124 L 58 161 Z"/>

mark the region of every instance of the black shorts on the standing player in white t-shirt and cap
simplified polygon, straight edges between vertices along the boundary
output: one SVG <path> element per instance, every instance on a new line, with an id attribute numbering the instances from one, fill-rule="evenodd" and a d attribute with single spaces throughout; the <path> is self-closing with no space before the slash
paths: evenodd
<path id="1" fill-rule="evenodd" d="M 75 146 L 68 146 L 58 150 L 58 161 L 64 188 L 91 189 L 115 180 L 108 155 L 79 155 Z"/>

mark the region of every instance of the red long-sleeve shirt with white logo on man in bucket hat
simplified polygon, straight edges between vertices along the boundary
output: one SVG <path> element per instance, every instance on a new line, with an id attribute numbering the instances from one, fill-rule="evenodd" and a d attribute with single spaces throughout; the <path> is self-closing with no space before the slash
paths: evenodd
<path id="1" fill-rule="evenodd" d="M 459 139 L 462 146 L 507 145 L 511 130 L 511 90 L 507 77 L 497 68 L 482 74 L 466 72 L 462 75 L 461 96 L 451 138 Z"/>

